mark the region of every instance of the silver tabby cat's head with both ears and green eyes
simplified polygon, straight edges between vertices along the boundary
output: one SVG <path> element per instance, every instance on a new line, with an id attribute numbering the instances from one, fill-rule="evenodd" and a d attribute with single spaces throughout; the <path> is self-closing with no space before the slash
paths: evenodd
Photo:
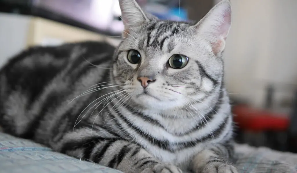
<path id="1" fill-rule="evenodd" d="M 231 5 L 222 0 L 198 23 L 159 20 L 134 0 L 119 0 L 125 26 L 113 80 L 125 82 L 133 101 L 153 109 L 183 107 L 220 92 L 222 52 Z"/>

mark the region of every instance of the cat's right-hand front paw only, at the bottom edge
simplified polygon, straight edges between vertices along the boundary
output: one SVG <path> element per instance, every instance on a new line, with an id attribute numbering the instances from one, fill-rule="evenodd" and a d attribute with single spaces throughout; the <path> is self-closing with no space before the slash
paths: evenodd
<path id="1" fill-rule="evenodd" d="M 203 173 L 238 173 L 238 171 L 232 165 L 214 162 L 207 164 L 203 169 Z"/>

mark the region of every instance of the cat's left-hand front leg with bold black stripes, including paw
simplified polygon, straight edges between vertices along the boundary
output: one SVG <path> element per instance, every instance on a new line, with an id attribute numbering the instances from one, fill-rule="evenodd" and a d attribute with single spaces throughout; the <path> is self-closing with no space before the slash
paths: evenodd
<path id="1" fill-rule="evenodd" d="M 80 128 L 58 134 L 52 147 L 69 156 L 82 158 L 124 173 L 181 173 L 170 164 L 162 164 L 140 145 L 122 139 L 105 128 Z"/>

